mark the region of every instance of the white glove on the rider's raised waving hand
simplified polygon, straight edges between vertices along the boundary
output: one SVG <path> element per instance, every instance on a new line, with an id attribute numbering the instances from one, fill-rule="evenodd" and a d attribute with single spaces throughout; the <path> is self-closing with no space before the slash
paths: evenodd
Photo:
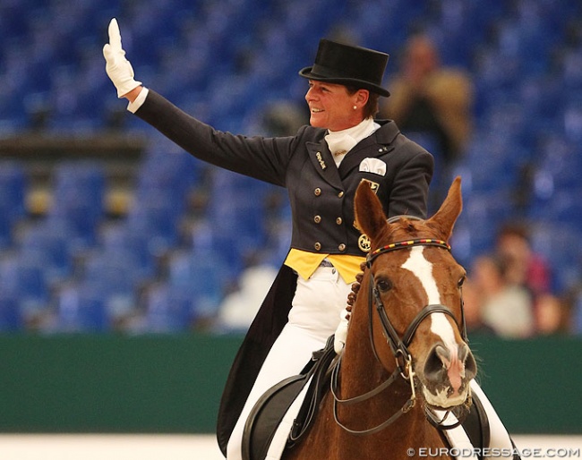
<path id="1" fill-rule="evenodd" d="M 141 81 L 133 80 L 133 67 L 125 59 L 124 48 L 121 47 L 121 32 L 116 18 L 109 22 L 109 43 L 103 47 L 103 55 L 107 62 L 105 71 L 117 89 L 117 98 L 123 98 L 132 89 L 141 85 Z"/>

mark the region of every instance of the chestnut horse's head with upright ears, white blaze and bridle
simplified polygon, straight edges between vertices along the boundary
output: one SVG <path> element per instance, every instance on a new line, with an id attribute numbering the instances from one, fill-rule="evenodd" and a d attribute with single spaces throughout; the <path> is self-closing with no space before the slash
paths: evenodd
<path id="1" fill-rule="evenodd" d="M 387 371 L 400 370 L 410 379 L 413 393 L 416 378 L 426 404 L 436 409 L 469 404 L 476 373 L 461 295 L 466 272 L 447 243 L 461 209 L 460 178 L 426 220 L 387 220 L 366 183 L 355 196 L 356 224 L 371 242 L 362 289 L 370 293 L 373 354 Z"/>

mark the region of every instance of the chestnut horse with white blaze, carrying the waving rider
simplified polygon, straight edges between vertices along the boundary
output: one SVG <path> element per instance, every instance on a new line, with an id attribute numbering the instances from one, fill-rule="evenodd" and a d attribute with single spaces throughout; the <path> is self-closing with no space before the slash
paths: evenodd
<path id="1" fill-rule="evenodd" d="M 462 311 L 465 270 L 446 243 L 461 209 L 460 178 L 427 220 L 387 221 L 360 184 L 356 224 L 372 249 L 346 345 L 312 428 L 282 458 L 449 458 L 435 413 L 467 411 L 476 373 Z"/>

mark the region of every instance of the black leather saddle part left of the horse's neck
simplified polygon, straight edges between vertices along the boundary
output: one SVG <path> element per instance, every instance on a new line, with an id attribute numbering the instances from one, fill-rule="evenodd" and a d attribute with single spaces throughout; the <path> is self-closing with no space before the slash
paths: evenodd
<path id="1" fill-rule="evenodd" d="M 330 336 L 325 347 L 312 354 L 311 361 L 298 375 L 280 381 L 253 406 L 244 425 L 243 460 L 265 459 L 279 423 L 306 385 L 309 387 L 289 433 L 286 448 L 294 446 L 309 430 L 318 413 L 321 398 L 329 388 L 329 370 L 337 356 L 333 338 Z"/>

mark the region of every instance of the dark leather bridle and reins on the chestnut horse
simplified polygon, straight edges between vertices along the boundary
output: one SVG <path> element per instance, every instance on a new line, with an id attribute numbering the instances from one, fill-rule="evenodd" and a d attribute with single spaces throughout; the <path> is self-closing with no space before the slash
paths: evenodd
<path id="1" fill-rule="evenodd" d="M 397 217 L 394 217 L 394 219 L 395 218 L 397 218 Z M 391 220 L 392 219 L 390 219 L 389 222 Z M 414 240 L 407 240 L 407 241 L 401 241 L 401 242 L 397 242 L 397 243 L 387 244 L 386 246 L 383 246 L 379 249 L 376 249 L 375 251 L 370 252 L 366 258 L 366 267 L 370 271 L 370 283 L 369 283 L 370 292 L 369 292 L 369 296 L 368 296 L 368 299 L 369 299 L 369 301 L 368 301 L 369 328 L 368 329 L 369 329 L 370 341 L 371 341 L 371 345 L 372 345 L 372 351 L 373 351 L 373 354 L 374 354 L 376 360 L 378 362 L 381 362 L 380 357 L 378 355 L 378 352 L 376 351 L 376 345 L 375 345 L 374 340 L 373 340 L 372 307 L 373 307 L 373 304 L 375 303 L 376 311 L 378 312 L 378 315 L 379 315 L 380 320 L 381 320 L 383 334 L 384 334 L 384 336 L 386 336 L 389 347 L 390 347 L 392 354 L 394 355 L 394 358 L 396 360 L 396 369 L 394 372 L 392 372 L 392 374 L 389 376 L 389 378 L 387 380 L 385 380 L 379 387 L 372 389 L 371 391 L 365 393 L 364 395 L 355 396 L 355 397 L 351 397 L 351 398 L 347 398 L 347 399 L 339 399 L 337 388 L 338 388 L 339 363 L 341 361 L 341 358 L 338 360 L 336 366 L 332 370 L 331 384 L 330 384 L 331 393 L 334 397 L 333 415 L 334 415 L 334 419 L 335 419 L 336 423 L 338 423 L 338 425 L 341 428 L 343 428 L 344 430 L 347 430 L 347 432 L 354 434 L 354 435 L 369 435 L 369 434 L 373 434 L 375 432 L 378 432 L 380 430 L 383 430 L 386 427 L 388 427 L 391 423 L 395 422 L 400 415 L 402 415 L 403 413 L 407 413 L 410 409 L 412 409 L 415 406 L 415 399 L 416 399 L 415 382 L 414 382 L 415 372 L 414 372 L 413 365 L 412 365 L 412 355 L 408 351 L 408 346 L 410 345 L 410 343 L 412 342 L 412 340 L 415 336 L 416 329 L 420 326 L 420 324 L 424 321 L 424 319 L 426 319 L 427 317 L 432 315 L 432 313 L 444 313 L 444 314 L 448 315 L 449 317 L 454 319 L 455 324 L 460 329 L 460 333 L 461 333 L 463 340 L 465 342 L 468 342 L 467 337 L 466 337 L 465 311 L 463 308 L 462 296 L 460 297 L 460 310 L 461 310 L 461 324 L 460 324 L 460 326 L 458 325 L 457 318 L 455 318 L 454 313 L 449 309 L 449 307 L 442 305 L 440 303 L 429 304 L 429 305 L 426 305 L 423 308 L 423 310 L 418 312 L 418 314 L 415 316 L 415 319 L 413 319 L 412 322 L 408 325 L 407 330 L 404 333 L 404 336 L 402 336 L 402 338 L 400 338 L 400 336 L 398 336 L 396 329 L 394 328 L 391 321 L 389 320 L 388 314 L 386 313 L 386 309 L 384 308 L 384 304 L 381 302 L 380 291 L 378 290 L 378 287 L 375 285 L 374 277 L 373 277 L 372 270 L 371 270 L 372 261 L 375 260 L 381 254 L 385 254 L 385 253 L 390 252 L 390 251 L 398 251 L 401 249 L 407 249 L 407 248 L 414 247 L 414 246 L 435 246 L 435 247 L 450 251 L 450 246 L 445 241 L 429 239 L 429 238 L 422 238 L 422 239 L 414 239 Z M 389 417 L 388 420 L 386 420 L 385 422 L 382 422 L 380 425 L 377 425 L 377 426 L 375 426 L 371 429 L 368 429 L 368 430 L 351 430 L 351 429 L 347 428 L 347 426 L 345 426 L 344 424 L 339 422 L 339 420 L 338 420 L 338 404 L 351 405 L 351 404 L 360 403 L 362 401 L 370 399 L 372 396 L 376 396 L 379 393 L 381 393 L 381 391 L 383 391 L 385 388 L 388 388 L 389 385 L 391 385 L 398 378 L 398 376 L 402 376 L 404 379 L 407 379 L 410 382 L 411 396 L 407 400 L 405 405 L 403 405 L 397 413 L 394 413 L 391 417 Z M 452 428 L 457 427 L 462 422 L 461 420 L 459 420 L 456 423 L 445 426 L 442 422 L 447 418 L 449 412 L 447 412 L 445 414 L 445 416 L 441 419 L 441 421 L 437 421 L 434 418 L 434 416 L 432 415 L 432 413 L 427 412 L 426 409 L 425 409 L 425 413 L 427 415 L 428 421 L 431 422 L 433 426 L 435 426 L 436 428 L 439 428 L 441 430 L 450 430 Z"/>

